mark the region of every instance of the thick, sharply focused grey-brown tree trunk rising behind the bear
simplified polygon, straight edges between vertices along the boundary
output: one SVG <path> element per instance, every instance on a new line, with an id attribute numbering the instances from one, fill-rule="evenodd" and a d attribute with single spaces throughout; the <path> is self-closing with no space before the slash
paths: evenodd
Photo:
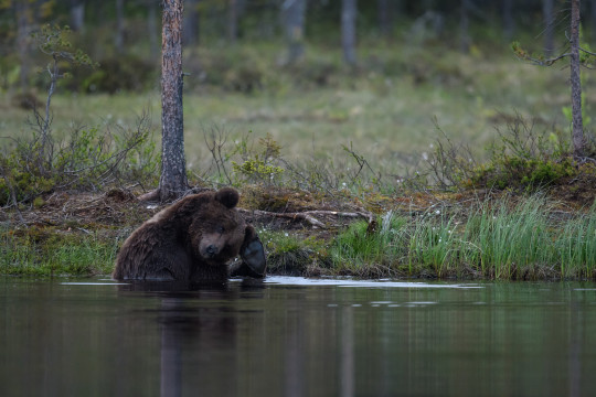
<path id="1" fill-rule="evenodd" d="M 162 202 L 188 189 L 182 117 L 182 1 L 163 0 L 161 41 L 161 179 Z"/>

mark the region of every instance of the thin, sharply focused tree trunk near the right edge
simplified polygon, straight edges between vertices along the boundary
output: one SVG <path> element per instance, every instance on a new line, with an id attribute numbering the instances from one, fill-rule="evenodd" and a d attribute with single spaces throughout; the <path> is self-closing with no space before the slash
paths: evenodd
<path id="1" fill-rule="evenodd" d="M 571 86 L 572 140 L 576 157 L 584 155 L 584 122 L 582 120 L 582 81 L 579 78 L 579 0 L 572 0 Z"/>

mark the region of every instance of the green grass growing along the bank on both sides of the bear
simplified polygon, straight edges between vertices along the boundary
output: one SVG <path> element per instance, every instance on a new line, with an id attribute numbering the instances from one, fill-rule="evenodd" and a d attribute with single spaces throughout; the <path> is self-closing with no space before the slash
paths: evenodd
<path id="1" fill-rule="evenodd" d="M 255 203 L 259 189 L 249 189 Z M 279 191 L 287 195 L 288 191 Z M 272 192 L 266 195 L 270 197 Z M 324 228 L 269 218 L 253 218 L 265 244 L 269 273 L 413 277 L 458 279 L 594 279 L 596 277 L 596 206 L 567 211 L 543 196 L 461 200 L 445 198 L 425 208 L 411 201 L 368 202 L 377 208 L 374 221 Z M 71 197 L 71 200 L 74 200 Z M 333 197 L 318 196 L 302 205 L 317 206 Z M 419 197 L 434 201 L 432 196 Z M 356 205 L 343 197 L 345 205 Z M 104 205 L 148 217 L 159 208 L 135 201 Z M 383 208 L 379 211 L 379 208 Z M 256 210 L 256 208 L 252 208 Z M 43 208 L 36 216 L 43 216 Z M 47 216 L 47 215 L 45 215 Z M 0 232 L 0 272 L 3 275 L 107 275 L 115 255 L 136 221 L 89 223 L 82 216 L 64 228 L 35 225 L 3 227 Z M 124 224 L 115 225 L 114 222 Z"/>

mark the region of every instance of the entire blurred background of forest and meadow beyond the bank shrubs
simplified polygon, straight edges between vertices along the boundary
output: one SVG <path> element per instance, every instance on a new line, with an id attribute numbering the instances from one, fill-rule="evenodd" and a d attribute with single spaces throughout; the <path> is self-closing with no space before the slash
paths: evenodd
<path id="1" fill-rule="evenodd" d="M 593 41 L 595 4 L 582 4 L 586 43 Z M 31 104 L 45 101 L 47 57 L 31 36 L 44 23 L 70 25 L 70 41 L 99 64 L 72 71 L 65 65 L 71 77 L 60 82 L 52 108 L 57 136 L 73 122 L 134 125 L 143 109 L 159 120 L 158 1 L 0 7 L 2 129 L 9 136 L 24 132 Z M 269 135 L 290 158 L 339 160 L 342 146 L 352 144 L 396 174 L 434 151 L 437 125 L 480 158 L 496 128 L 507 128 L 518 115 L 566 129 L 564 65 L 534 67 L 519 61 L 510 44 L 519 41 L 545 56 L 563 53 L 568 8 L 554 0 L 187 0 L 189 164 L 210 168 L 204 135 L 213 128 L 231 133 L 232 141 L 248 131 Z M 592 81 L 585 73 L 588 115 Z M 152 126 L 159 129 L 159 121 Z"/>

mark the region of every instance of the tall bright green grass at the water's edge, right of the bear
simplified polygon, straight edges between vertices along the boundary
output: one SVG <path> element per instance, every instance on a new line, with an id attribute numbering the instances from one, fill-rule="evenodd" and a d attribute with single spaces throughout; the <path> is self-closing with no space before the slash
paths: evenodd
<path id="1" fill-rule="evenodd" d="M 373 233 L 356 223 L 336 238 L 330 256 L 334 271 L 355 276 L 594 278 L 595 207 L 566 221 L 552 213 L 533 196 L 483 202 L 466 213 L 427 211 Z"/>

